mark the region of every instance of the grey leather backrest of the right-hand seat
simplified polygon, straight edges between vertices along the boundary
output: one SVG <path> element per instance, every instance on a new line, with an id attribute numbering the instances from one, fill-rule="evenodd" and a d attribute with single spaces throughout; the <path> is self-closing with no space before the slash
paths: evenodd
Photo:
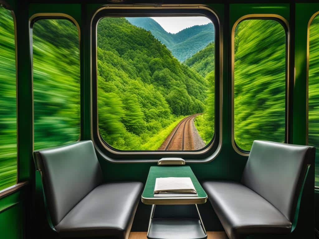
<path id="1" fill-rule="evenodd" d="M 241 183 L 293 221 L 307 166 L 314 160 L 315 147 L 256 140 Z"/>

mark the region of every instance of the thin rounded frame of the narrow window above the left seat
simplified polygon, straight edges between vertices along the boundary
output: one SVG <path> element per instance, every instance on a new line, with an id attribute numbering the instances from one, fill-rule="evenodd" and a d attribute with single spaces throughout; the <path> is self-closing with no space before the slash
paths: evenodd
<path id="1" fill-rule="evenodd" d="M 71 23 L 73 23 L 75 25 L 75 27 L 78 29 L 78 41 L 79 41 L 79 53 L 80 53 L 80 126 L 79 126 L 79 136 L 78 136 L 78 141 L 81 141 L 82 139 L 82 85 L 81 85 L 81 29 L 80 26 L 78 24 L 78 22 L 70 15 L 65 14 L 65 13 L 36 13 L 33 14 L 30 19 L 29 19 L 29 29 L 30 29 L 30 56 L 31 56 L 31 73 L 32 73 L 32 132 L 33 132 L 33 139 L 32 139 L 32 150 L 34 151 L 34 89 L 33 89 L 33 25 L 39 21 L 39 20 L 57 20 L 57 19 L 64 19 L 64 20 L 68 20 Z M 67 143 L 63 144 L 66 145 Z M 63 146 L 63 145 L 59 145 L 59 146 Z M 58 147 L 58 146 L 57 146 Z"/>

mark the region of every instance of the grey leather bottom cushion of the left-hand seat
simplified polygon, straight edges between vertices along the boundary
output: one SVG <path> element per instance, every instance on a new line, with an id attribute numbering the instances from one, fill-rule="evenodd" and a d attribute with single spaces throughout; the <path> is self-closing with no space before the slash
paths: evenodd
<path id="1" fill-rule="evenodd" d="M 102 184 L 55 226 L 62 237 L 128 238 L 141 196 L 140 182 Z"/>

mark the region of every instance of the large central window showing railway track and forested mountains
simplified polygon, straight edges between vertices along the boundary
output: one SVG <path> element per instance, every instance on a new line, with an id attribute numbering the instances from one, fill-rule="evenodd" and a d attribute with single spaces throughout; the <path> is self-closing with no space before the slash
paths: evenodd
<path id="1" fill-rule="evenodd" d="M 206 17 L 97 26 L 101 138 L 117 150 L 199 150 L 214 136 L 215 29 Z"/>

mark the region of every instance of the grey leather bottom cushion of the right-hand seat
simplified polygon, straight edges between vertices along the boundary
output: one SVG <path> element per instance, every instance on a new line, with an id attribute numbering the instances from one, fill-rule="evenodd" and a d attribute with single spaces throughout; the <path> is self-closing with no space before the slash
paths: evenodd
<path id="1" fill-rule="evenodd" d="M 250 234 L 288 234 L 291 222 L 271 203 L 235 182 L 204 182 L 203 187 L 230 239 Z"/>

